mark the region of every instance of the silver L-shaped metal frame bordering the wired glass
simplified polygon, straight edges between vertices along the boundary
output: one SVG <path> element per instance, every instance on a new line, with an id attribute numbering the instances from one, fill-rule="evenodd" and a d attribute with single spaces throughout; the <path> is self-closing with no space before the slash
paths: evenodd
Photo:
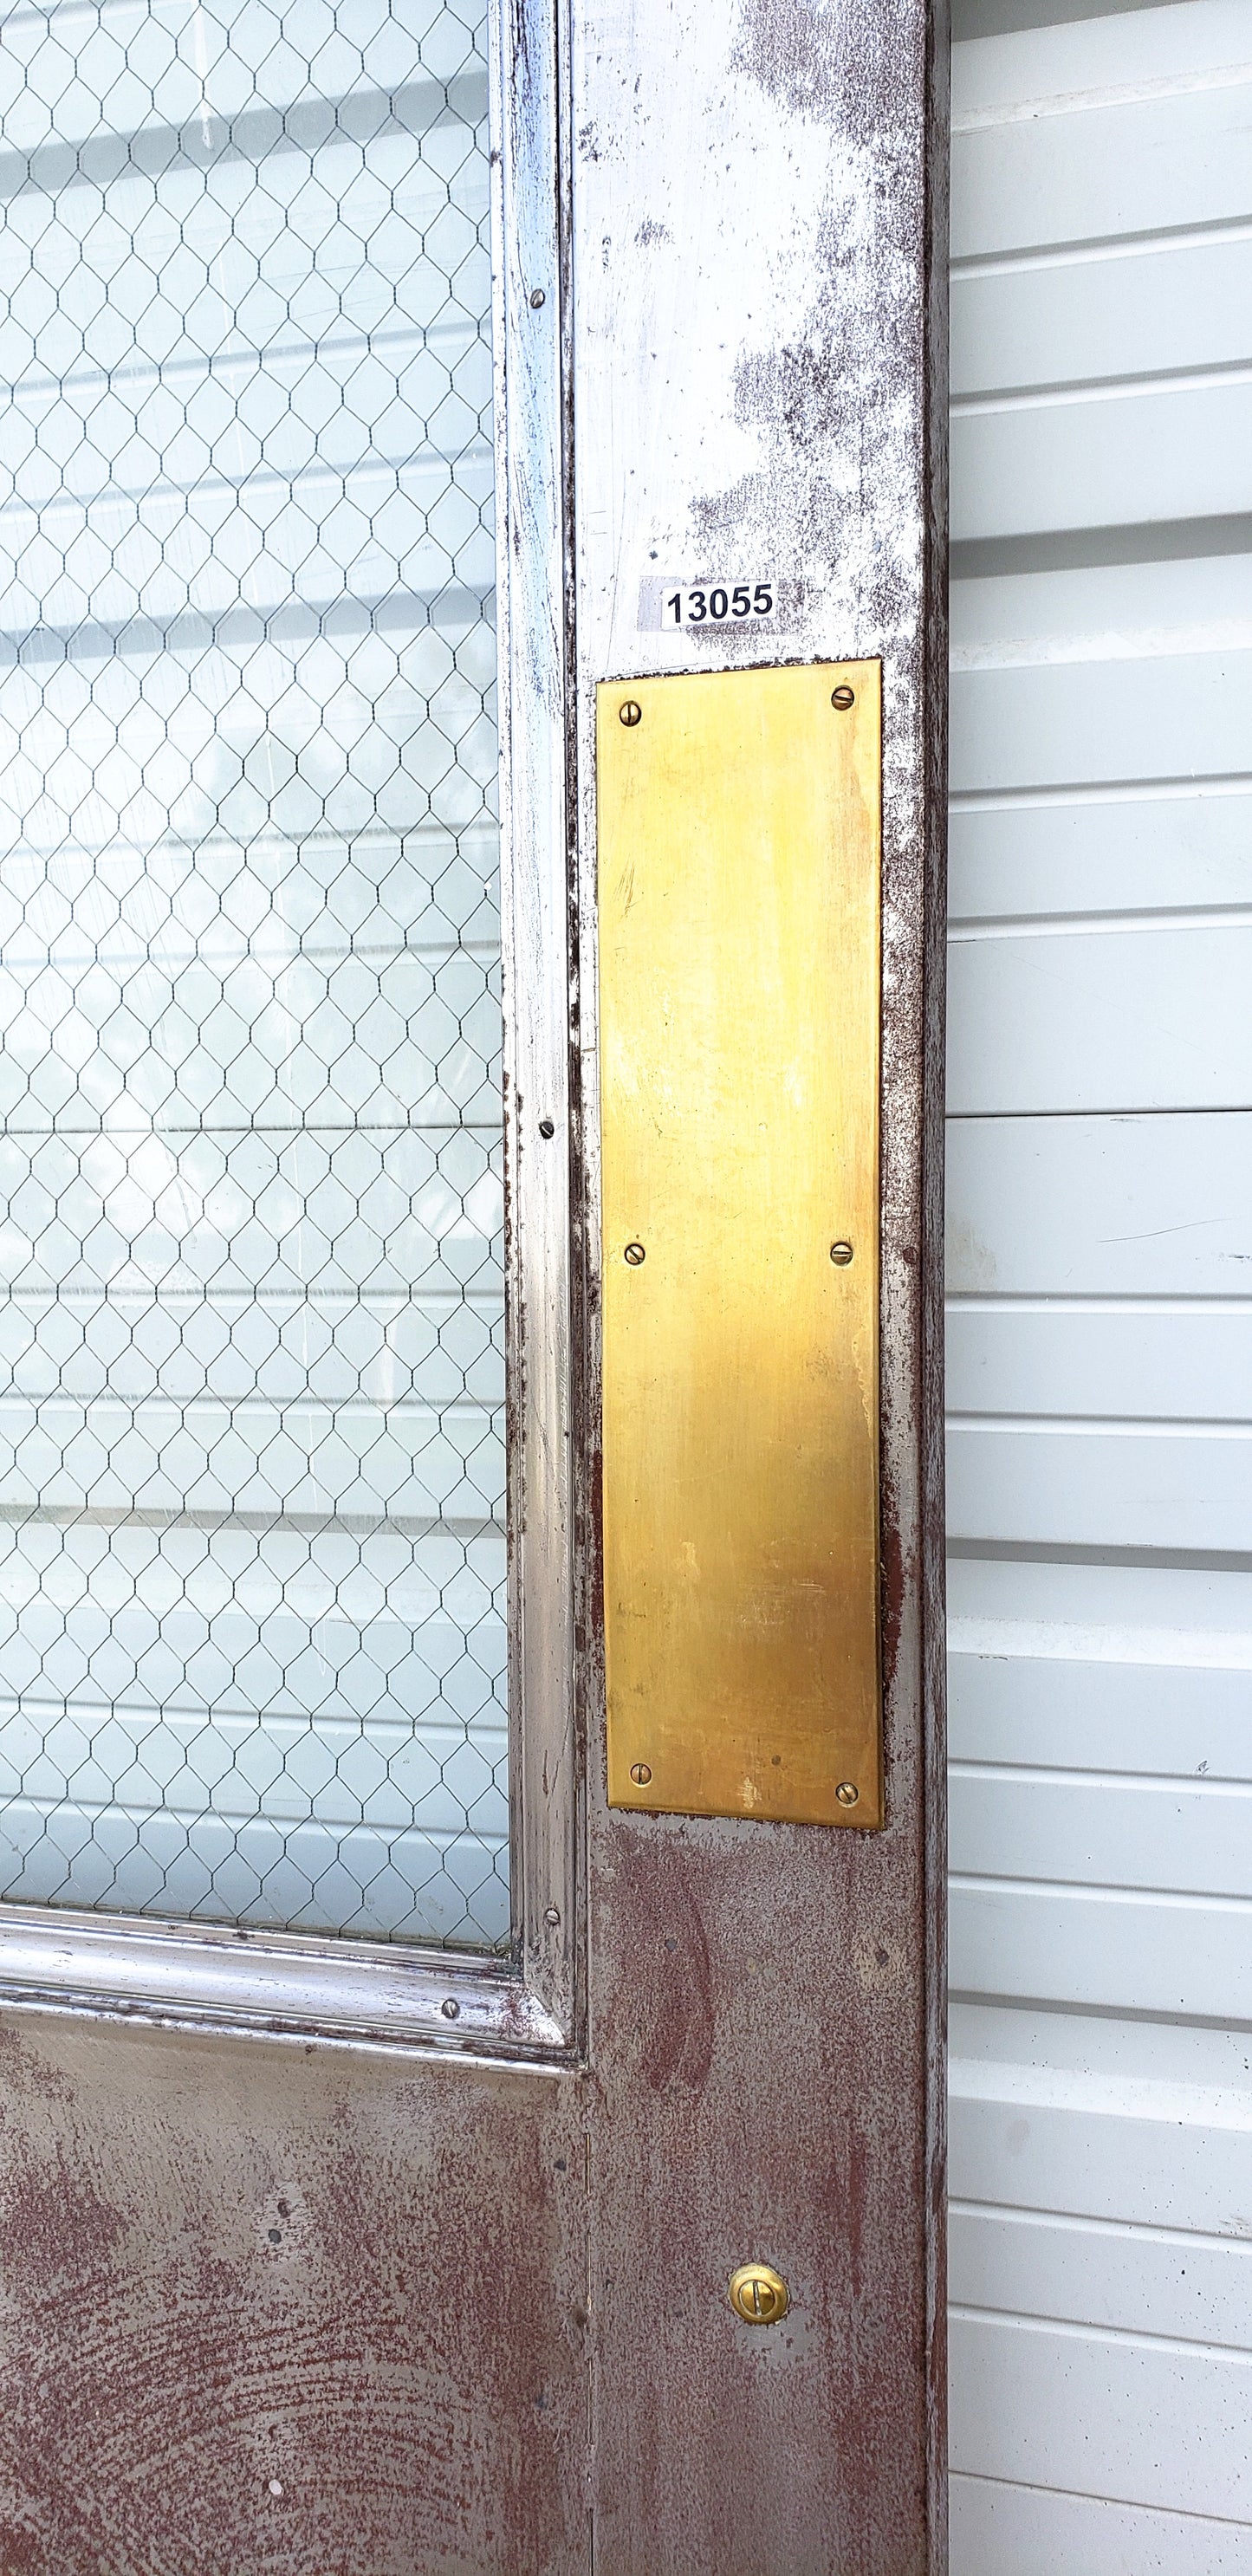
<path id="1" fill-rule="evenodd" d="M 531 2063 L 577 2053 L 569 191 L 559 0 L 487 0 L 507 1188 L 513 1960 L 0 1906 L 0 2004 Z M 551 1123 L 551 1139 L 541 1136 Z"/>

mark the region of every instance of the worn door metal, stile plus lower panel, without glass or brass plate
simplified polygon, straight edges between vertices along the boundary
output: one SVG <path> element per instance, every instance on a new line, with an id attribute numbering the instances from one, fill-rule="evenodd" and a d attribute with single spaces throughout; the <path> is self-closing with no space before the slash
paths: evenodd
<path id="1" fill-rule="evenodd" d="M 680 667 L 657 567 L 768 551 L 781 657 L 884 657 L 886 1832 L 608 1814 L 590 1280 L 590 2074 L 8 2017 L 5 2576 L 945 2566 L 938 15 L 580 0 L 572 46 L 580 721 Z"/>

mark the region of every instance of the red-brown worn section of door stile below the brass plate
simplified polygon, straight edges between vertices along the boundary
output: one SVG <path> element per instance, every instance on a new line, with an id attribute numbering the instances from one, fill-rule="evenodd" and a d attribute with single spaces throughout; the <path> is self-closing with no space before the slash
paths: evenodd
<path id="1" fill-rule="evenodd" d="M 835 1839 L 845 1852 L 850 1837 Z M 922 2481 L 907 2385 L 922 2354 L 915 1999 L 889 1991 L 866 2009 L 855 1994 L 835 1937 L 853 1922 L 853 1862 L 827 1870 L 830 1839 L 611 1819 L 611 1847 L 634 1973 L 616 1963 L 600 1989 L 605 2566 L 909 2576 L 922 2566 L 915 2506 L 899 2501 Z M 711 1958 L 708 2074 L 701 2092 L 654 2094 L 644 2117 L 634 2069 L 654 2022 L 657 1935 L 683 1960 L 690 1914 Z M 884 1953 L 891 1965 L 886 1940 Z M 793 2285 L 791 2349 L 773 2334 L 755 2342 L 729 2313 L 726 2275 L 747 2254 Z M 649 2300 L 654 2282 L 665 2308 Z M 618 2458 L 641 2530 L 670 2535 L 665 2555 L 649 2558 L 613 2517 Z M 773 2563 L 765 2530 L 781 2535 Z"/>

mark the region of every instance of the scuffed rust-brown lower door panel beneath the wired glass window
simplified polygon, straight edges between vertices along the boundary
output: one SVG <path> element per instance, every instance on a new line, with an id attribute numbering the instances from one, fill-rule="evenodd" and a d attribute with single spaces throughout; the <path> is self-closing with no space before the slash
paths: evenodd
<path id="1" fill-rule="evenodd" d="M 5 2576 L 572 2576 L 577 2079 L 0 2045 Z"/>

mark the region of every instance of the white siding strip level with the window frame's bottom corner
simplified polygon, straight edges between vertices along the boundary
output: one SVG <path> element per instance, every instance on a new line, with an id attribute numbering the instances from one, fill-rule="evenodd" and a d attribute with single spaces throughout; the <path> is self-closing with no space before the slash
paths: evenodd
<path id="1" fill-rule="evenodd" d="M 1252 2025 L 1252 1906 L 956 1880 L 951 1984 L 1005 2002 Z"/>

